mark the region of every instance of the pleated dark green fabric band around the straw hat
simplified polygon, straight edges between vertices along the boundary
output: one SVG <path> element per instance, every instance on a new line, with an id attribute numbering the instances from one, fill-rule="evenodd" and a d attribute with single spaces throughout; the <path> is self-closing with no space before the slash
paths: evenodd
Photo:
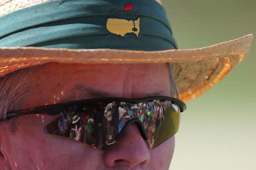
<path id="1" fill-rule="evenodd" d="M 0 17 L 0 46 L 71 49 L 176 49 L 154 0 L 53 0 Z"/>

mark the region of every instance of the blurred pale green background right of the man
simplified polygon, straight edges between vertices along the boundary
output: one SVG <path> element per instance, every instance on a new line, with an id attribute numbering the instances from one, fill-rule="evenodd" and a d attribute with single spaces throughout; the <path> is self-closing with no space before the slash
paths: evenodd
<path id="1" fill-rule="evenodd" d="M 163 0 L 180 49 L 253 33 L 255 0 Z M 256 44 L 243 62 L 182 113 L 172 170 L 256 169 Z"/>

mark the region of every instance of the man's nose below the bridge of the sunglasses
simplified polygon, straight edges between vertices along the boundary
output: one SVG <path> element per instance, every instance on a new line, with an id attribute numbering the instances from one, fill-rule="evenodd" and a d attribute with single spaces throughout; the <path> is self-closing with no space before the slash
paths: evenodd
<path id="1" fill-rule="evenodd" d="M 111 168 L 146 168 L 150 152 L 137 124 L 130 124 L 122 137 L 105 151 L 104 162 Z"/>

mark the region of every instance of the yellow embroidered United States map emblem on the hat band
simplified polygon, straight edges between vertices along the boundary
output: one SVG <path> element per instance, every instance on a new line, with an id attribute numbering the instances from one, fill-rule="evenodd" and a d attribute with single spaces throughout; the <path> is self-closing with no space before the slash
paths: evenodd
<path id="1" fill-rule="evenodd" d="M 109 18 L 106 23 L 109 32 L 124 37 L 127 33 L 135 33 L 139 37 L 139 18 L 137 20 Z"/>

